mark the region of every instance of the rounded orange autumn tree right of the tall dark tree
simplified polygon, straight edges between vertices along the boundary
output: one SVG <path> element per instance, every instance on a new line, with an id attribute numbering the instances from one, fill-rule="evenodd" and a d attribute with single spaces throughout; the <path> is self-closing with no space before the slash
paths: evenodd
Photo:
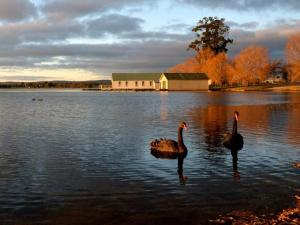
<path id="1" fill-rule="evenodd" d="M 228 68 L 231 81 L 241 84 L 257 84 L 266 79 L 269 71 L 269 55 L 264 47 L 250 46 L 237 55 L 233 68 Z"/>

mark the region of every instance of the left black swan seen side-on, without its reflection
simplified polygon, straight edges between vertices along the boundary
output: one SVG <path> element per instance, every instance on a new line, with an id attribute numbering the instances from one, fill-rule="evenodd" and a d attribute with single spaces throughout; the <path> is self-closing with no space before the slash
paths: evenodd
<path id="1" fill-rule="evenodd" d="M 187 129 L 185 122 L 181 122 L 178 127 L 178 141 L 172 139 L 155 139 L 150 143 L 151 154 L 157 158 L 174 158 L 186 156 L 187 148 L 183 143 L 182 130 Z"/>

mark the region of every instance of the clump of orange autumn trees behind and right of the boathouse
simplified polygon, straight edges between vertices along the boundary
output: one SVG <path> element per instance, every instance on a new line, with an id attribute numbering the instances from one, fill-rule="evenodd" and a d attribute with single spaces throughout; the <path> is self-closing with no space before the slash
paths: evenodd
<path id="1" fill-rule="evenodd" d="M 210 48 L 201 49 L 195 57 L 168 70 L 174 73 L 206 73 L 212 83 L 243 85 L 258 84 L 270 72 L 268 51 L 264 47 L 250 46 L 230 61 L 226 53 L 215 54 Z"/>

